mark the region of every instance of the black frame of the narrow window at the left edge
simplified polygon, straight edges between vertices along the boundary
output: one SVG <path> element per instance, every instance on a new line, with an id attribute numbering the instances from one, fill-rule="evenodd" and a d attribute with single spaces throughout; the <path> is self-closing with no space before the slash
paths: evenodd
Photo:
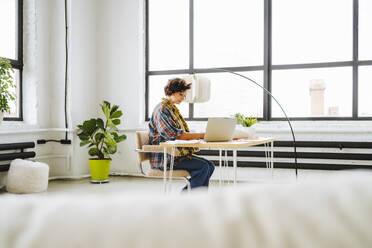
<path id="1" fill-rule="evenodd" d="M 18 82 L 18 117 L 4 117 L 4 121 L 23 121 L 23 0 L 17 1 L 16 19 L 17 19 L 17 59 L 9 59 L 13 69 L 19 70 L 19 82 Z"/>

